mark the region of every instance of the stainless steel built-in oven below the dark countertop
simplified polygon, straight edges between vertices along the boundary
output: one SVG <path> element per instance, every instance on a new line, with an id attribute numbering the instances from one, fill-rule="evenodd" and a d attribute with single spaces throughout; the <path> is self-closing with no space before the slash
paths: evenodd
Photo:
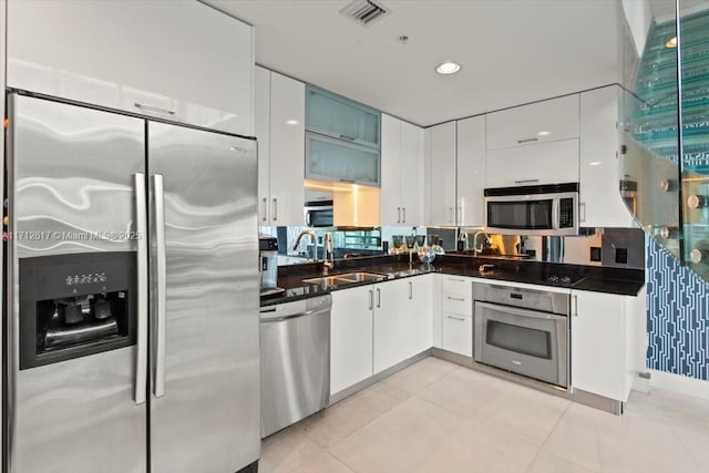
<path id="1" fill-rule="evenodd" d="M 564 292 L 475 285 L 475 361 L 566 388 L 569 307 Z"/>

